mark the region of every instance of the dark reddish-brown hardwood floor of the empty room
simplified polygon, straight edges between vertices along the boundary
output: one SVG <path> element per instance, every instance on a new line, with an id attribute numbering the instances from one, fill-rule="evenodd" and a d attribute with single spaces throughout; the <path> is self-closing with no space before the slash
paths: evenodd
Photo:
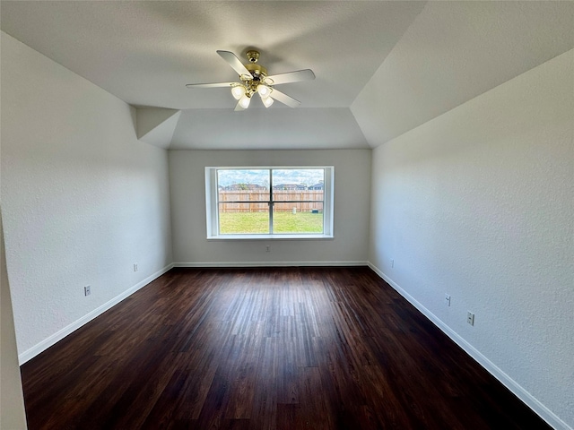
<path id="1" fill-rule="evenodd" d="M 22 380 L 30 430 L 550 428 L 368 268 L 174 269 Z"/>

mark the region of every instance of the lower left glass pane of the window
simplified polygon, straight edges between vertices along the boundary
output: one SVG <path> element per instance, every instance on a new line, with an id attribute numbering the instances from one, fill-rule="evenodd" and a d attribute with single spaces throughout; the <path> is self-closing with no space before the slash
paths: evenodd
<path id="1" fill-rule="evenodd" d="M 220 235 L 268 234 L 269 205 L 261 202 L 220 202 Z"/>

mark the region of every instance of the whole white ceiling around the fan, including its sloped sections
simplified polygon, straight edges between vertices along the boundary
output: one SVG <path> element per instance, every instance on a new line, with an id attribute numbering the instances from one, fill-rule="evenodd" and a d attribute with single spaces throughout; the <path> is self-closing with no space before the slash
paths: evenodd
<path id="1" fill-rule="evenodd" d="M 135 106 L 182 109 L 173 149 L 369 148 L 574 47 L 573 2 L 2 1 L 1 28 Z M 215 51 L 261 52 L 301 101 L 233 112 Z"/>

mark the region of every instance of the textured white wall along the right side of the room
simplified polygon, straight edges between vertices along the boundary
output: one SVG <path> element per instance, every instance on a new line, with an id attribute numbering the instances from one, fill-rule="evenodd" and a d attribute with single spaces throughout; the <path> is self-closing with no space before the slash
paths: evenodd
<path id="1" fill-rule="evenodd" d="M 369 257 L 564 428 L 574 426 L 573 76 L 571 50 L 373 150 Z"/>

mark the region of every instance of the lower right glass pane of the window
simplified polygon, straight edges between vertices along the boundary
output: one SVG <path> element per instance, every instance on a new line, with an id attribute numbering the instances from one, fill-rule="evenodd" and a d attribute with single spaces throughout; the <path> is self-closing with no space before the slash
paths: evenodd
<path id="1" fill-rule="evenodd" d="M 289 207 L 287 205 L 289 204 Z M 274 234 L 322 234 L 323 203 L 275 203 Z"/>

